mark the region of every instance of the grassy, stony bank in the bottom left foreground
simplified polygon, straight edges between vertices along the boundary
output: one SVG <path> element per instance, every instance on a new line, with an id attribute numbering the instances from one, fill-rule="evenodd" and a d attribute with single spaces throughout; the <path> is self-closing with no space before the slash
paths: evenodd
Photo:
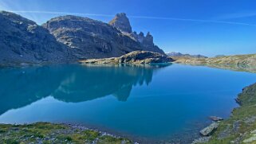
<path id="1" fill-rule="evenodd" d="M 0 124 L 0 143 L 132 143 L 83 126 L 33 123 L 26 125 Z"/>

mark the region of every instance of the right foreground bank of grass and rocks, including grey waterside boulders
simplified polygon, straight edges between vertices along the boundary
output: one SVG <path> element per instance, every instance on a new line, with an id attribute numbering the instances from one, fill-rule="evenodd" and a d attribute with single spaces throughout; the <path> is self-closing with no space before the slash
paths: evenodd
<path id="1" fill-rule="evenodd" d="M 243 88 L 235 100 L 240 107 L 234 108 L 230 118 L 201 130 L 203 137 L 195 139 L 194 144 L 256 142 L 256 84 Z"/>

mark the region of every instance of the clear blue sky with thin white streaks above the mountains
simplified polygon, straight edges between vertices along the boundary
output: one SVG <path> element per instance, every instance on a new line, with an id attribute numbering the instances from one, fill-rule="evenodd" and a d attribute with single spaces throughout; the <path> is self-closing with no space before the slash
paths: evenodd
<path id="1" fill-rule="evenodd" d="M 165 52 L 256 53 L 255 0 L 0 0 L 0 10 L 38 24 L 65 14 L 108 22 L 124 12 L 133 30 L 150 31 Z"/>

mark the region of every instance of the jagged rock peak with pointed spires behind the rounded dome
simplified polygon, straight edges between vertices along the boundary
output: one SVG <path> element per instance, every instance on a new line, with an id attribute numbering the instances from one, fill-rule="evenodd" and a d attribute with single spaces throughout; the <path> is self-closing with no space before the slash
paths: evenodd
<path id="1" fill-rule="evenodd" d="M 149 32 L 146 34 L 146 36 L 144 36 L 144 33 L 142 32 L 139 34 L 136 32 L 132 33 L 132 26 L 130 25 L 130 21 L 128 20 L 126 14 L 116 14 L 116 17 L 112 19 L 112 21 L 109 21 L 108 24 L 112 25 L 116 29 L 119 29 L 121 33 L 131 37 L 134 41 L 139 42 L 144 51 L 164 54 L 163 50 L 154 44 L 154 38 Z"/>

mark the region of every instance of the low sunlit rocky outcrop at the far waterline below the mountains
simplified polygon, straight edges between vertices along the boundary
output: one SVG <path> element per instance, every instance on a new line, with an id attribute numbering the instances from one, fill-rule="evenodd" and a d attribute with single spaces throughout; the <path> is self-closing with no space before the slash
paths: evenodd
<path id="1" fill-rule="evenodd" d="M 160 53 L 135 51 L 120 57 L 81 60 L 81 64 L 154 64 L 168 63 L 172 59 Z"/>

